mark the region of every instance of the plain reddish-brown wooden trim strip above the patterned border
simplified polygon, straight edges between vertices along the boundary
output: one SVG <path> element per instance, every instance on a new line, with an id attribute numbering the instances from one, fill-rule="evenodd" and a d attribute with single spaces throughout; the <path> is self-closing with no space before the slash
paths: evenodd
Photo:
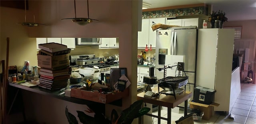
<path id="1" fill-rule="evenodd" d="M 152 9 L 144 9 L 142 12 L 150 12 L 150 11 L 158 11 L 158 10 L 171 10 L 171 9 L 180 9 L 180 8 L 190 8 L 190 7 L 199 7 L 199 6 L 207 6 L 206 4 L 191 4 L 191 5 L 180 5 L 180 6 L 168 6 L 161 8 L 152 8 Z"/>

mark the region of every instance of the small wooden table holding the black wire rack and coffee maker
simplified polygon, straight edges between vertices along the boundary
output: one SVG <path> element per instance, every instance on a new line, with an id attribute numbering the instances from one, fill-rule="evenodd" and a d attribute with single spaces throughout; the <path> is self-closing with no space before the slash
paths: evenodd
<path id="1" fill-rule="evenodd" d="M 188 98 L 192 96 L 192 93 L 189 91 L 186 91 L 186 93 L 176 95 L 176 99 L 174 96 L 165 94 L 160 94 L 159 97 L 155 98 L 144 98 L 144 92 L 137 94 L 137 100 L 143 100 L 144 102 L 150 103 L 150 104 L 156 104 L 158 105 L 158 116 L 155 116 L 153 114 L 146 114 L 148 116 L 156 117 L 158 118 L 158 124 L 160 124 L 160 119 L 167 120 L 167 124 L 171 124 L 171 111 L 172 108 L 178 106 L 182 102 L 185 102 L 184 105 L 184 116 L 188 114 Z M 161 117 L 161 106 L 167 107 L 167 118 Z"/>

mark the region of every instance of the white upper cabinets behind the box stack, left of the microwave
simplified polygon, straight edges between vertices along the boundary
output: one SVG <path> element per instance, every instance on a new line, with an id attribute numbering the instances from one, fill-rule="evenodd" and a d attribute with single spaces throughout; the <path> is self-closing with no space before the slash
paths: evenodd
<path id="1" fill-rule="evenodd" d="M 52 42 L 67 45 L 70 49 L 76 48 L 75 38 L 36 38 L 36 49 L 40 50 L 38 44 Z"/>

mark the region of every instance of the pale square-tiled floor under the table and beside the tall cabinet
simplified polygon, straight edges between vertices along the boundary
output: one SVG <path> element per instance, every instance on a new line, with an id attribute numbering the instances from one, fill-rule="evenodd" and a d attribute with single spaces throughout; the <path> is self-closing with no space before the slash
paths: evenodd
<path id="1" fill-rule="evenodd" d="M 231 110 L 234 114 L 234 120 L 228 118 L 223 113 L 215 112 L 210 120 L 202 120 L 194 122 L 194 124 L 256 124 L 256 84 L 241 83 L 241 93 Z M 152 114 L 157 115 L 157 111 Z M 179 114 L 178 114 L 179 113 Z M 172 112 L 171 124 L 175 124 L 175 120 L 184 116 L 183 112 Z M 167 118 L 167 109 L 162 108 L 161 115 Z M 152 117 L 152 124 L 158 124 L 158 119 Z M 161 120 L 161 124 L 167 124 L 166 120 Z"/>

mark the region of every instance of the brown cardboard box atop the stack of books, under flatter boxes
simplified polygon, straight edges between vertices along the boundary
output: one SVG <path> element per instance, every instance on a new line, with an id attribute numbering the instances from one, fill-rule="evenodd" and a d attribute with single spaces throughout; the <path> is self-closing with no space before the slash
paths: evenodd
<path id="1" fill-rule="evenodd" d="M 56 68 L 64 65 L 69 65 L 69 57 L 68 54 L 64 55 L 39 55 L 37 54 L 38 66 L 45 68 Z"/>

